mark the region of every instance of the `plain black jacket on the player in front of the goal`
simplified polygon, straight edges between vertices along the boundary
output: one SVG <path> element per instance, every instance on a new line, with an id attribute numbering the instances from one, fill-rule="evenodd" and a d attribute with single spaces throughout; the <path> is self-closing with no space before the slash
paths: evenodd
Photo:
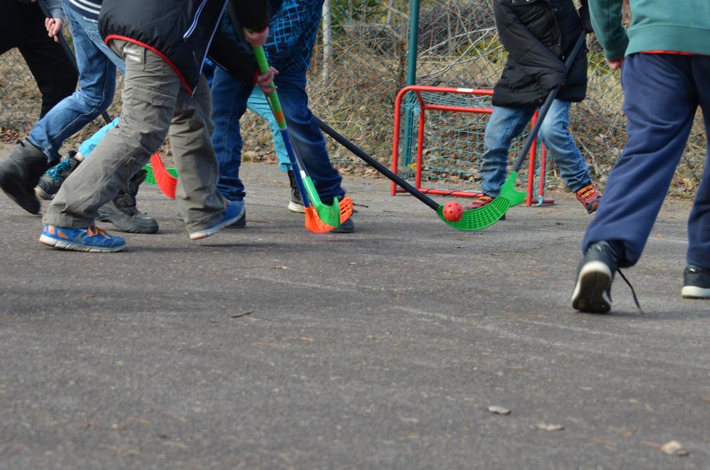
<path id="1" fill-rule="evenodd" d="M 494 0 L 501 43 L 508 50 L 503 75 L 493 89 L 496 106 L 542 104 L 550 89 L 564 84 L 558 99 L 581 102 L 586 95 L 586 47 L 572 63 L 564 59 L 582 28 L 572 0 Z"/>

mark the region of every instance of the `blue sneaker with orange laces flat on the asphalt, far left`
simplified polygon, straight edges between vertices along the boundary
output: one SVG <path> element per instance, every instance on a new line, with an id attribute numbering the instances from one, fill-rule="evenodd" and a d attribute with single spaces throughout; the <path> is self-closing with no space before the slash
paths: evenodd
<path id="1" fill-rule="evenodd" d="M 120 236 L 109 235 L 95 225 L 84 229 L 71 229 L 70 227 L 45 224 L 42 236 L 40 236 L 40 243 L 60 250 L 92 251 L 94 253 L 121 251 L 126 247 L 126 241 Z"/>

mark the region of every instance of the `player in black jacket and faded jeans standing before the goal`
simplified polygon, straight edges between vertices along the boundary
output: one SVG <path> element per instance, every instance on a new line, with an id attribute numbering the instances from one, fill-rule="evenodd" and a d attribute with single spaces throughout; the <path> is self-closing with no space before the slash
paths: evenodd
<path id="1" fill-rule="evenodd" d="M 564 69 L 564 59 L 579 35 L 591 31 L 586 7 L 580 9 L 580 18 L 572 0 L 495 0 L 493 13 L 508 60 L 493 89 L 493 114 L 484 133 L 484 194 L 468 208 L 478 209 L 498 197 L 506 181 L 510 142 L 523 132 L 550 90 L 561 85 L 542 121 L 540 137 L 567 187 L 591 214 L 599 206 L 601 193 L 592 184 L 589 167 L 568 129 L 570 105 L 586 96 L 586 47 L 569 73 Z"/>

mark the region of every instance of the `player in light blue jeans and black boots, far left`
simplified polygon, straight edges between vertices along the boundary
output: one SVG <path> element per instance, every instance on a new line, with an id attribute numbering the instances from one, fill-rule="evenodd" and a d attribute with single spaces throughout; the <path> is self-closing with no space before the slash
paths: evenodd
<path id="1" fill-rule="evenodd" d="M 40 212 L 38 195 L 54 197 L 80 164 L 71 153 L 62 158 L 60 148 L 67 138 L 109 108 L 116 92 L 116 70 L 124 72 L 124 62 L 109 50 L 99 34 L 102 0 L 63 0 L 62 5 L 72 32 L 80 87 L 53 106 L 28 137 L 13 148 L 9 158 L 0 162 L 0 189 L 31 214 Z M 50 11 L 58 16 L 62 9 Z M 56 18 L 48 20 L 48 28 L 56 37 L 62 23 Z M 60 57 L 67 58 L 58 44 L 57 48 Z M 158 231 L 158 222 L 136 209 L 133 193 L 138 191 L 140 180 L 140 175 L 133 177 L 115 200 L 102 207 L 102 212 L 117 229 L 152 234 Z"/>

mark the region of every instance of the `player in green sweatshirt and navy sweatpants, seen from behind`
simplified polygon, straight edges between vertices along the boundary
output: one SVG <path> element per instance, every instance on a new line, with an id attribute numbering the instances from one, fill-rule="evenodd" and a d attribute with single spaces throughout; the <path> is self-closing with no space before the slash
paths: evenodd
<path id="1" fill-rule="evenodd" d="M 582 241 L 572 307 L 611 310 L 619 268 L 638 263 L 687 145 L 698 106 L 710 136 L 710 2 L 589 0 L 606 62 L 621 68 L 628 140 Z M 622 67 L 623 65 L 623 67 Z M 688 218 L 681 295 L 710 298 L 710 158 Z"/>

